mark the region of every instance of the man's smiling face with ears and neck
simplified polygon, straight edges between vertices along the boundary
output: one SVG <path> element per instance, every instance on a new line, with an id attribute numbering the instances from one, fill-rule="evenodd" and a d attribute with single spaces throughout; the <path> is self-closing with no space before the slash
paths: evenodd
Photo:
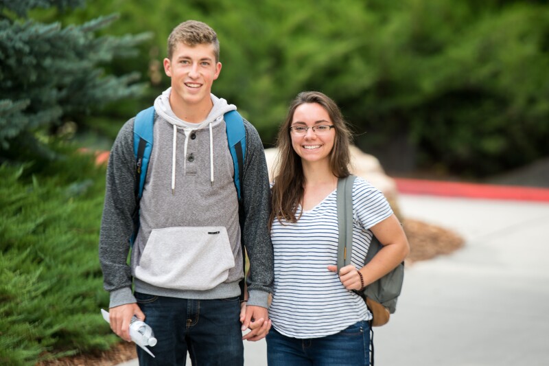
<path id="1" fill-rule="evenodd" d="M 200 107 L 211 104 L 211 85 L 219 76 L 221 62 L 215 62 L 213 45 L 179 43 L 172 59 L 164 59 L 164 71 L 172 78 L 172 108 Z"/>

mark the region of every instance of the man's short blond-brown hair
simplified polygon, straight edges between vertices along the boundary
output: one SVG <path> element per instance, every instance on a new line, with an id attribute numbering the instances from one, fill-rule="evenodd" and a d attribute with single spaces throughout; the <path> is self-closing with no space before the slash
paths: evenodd
<path id="1" fill-rule="evenodd" d="M 172 30 L 167 38 L 167 57 L 172 60 L 178 43 L 193 47 L 196 45 L 213 45 L 215 62 L 219 62 L 218 34 L 201 21 L 184 21 Z"/>

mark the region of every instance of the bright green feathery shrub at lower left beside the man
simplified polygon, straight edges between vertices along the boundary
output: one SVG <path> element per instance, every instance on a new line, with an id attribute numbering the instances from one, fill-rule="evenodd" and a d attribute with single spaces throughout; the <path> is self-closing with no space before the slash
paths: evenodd
<path id="1" fill-rule="evenodd" d="M 0 364 L 106 350 L 117 341 L 97 260 L 104 168 L 75 146 L 29 175 L 1 165 Z"/>

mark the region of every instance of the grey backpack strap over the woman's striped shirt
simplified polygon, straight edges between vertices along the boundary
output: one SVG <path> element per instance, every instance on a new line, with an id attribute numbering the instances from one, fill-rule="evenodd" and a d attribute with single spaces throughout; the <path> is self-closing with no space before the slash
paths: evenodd
<path id="1" fill-rule="evenodd" d="M 353 251 L 353 183 L 356 176 L 349 175 L 338 179 L 338 271 L 341 267 L 351 264 Z"/>

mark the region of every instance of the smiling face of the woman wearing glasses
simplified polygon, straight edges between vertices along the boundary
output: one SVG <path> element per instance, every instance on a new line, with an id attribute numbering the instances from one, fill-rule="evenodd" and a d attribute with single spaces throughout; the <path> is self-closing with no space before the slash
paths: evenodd
<path id="1" fill-rule="evenodd" d="M 319 126 L 324 126 L 320 127 Z M 327 127 L 332 126 L 332 127 Z M 327 111 L 318 103 L 301 104 L 294 111 L 290 127 L 292 147 L 302 161 L 328 161 L 331 149 L 334 148 L 336 128 Z M 308 128 L 307 128 L 308 127 Z M 316 132 L 311 127 L 316 128 Z M 301 133 L 296 128 L 301 129 Z M 307 128 L 307 130 L 303 130 Z M 303 132 L 305 132 L 303 134 Z"/>

